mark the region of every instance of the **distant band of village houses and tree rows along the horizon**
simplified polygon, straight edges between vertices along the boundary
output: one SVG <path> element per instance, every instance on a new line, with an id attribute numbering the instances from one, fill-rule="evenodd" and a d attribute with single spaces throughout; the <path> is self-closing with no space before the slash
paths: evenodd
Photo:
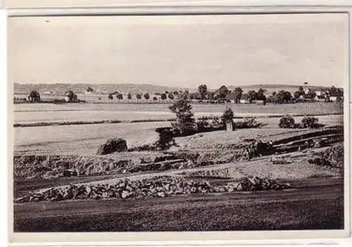
<path id="1" fill-rule="evenodd" d="M 45 97 L 42 97 L 45 96 Z M 264 88 L 249 90 L 244 92 L 241 87 L 235 87 L 233 90 L 222 85 L 219 89 L 208 90 L 206 84 L 201 84 L 197 91 L 189 92 L 180 91 L 161 91 L 140 92 L 132 94 L 130 92 L 113 91 L 102 94 L 94 91 L 92 87 L 87 87 L 84 93 L 75 93 L 71 90 L 65 91 L 61 98 L 57 99 L 55 91 L 42 91 L 42 96 L 37 90 L 32 90 L 26 98 L 14 97 L 14 103 L 84 103 L 86 96 L 89 101 L 120 101 L 120 102 L 167 102 L 175 101 L 180 97 L 186 97 L 194 103 L 241 103 L 241 104 L 261 104 L 266 103 L 301 103 L 301 102 L 338 102 L 344 100 L 344 91 L 337 87 L 309 87 L 305 82 L 297 91 L 291 92 L 286 90 L 268 91 Z"/>

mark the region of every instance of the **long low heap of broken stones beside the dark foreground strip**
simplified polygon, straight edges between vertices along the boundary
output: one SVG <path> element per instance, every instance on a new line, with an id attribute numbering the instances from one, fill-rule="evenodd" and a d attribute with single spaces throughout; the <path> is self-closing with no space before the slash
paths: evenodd
<path id="1" fill-rule="evenodd" d="M 256 191 L 268 189 L 286 189 L 288 184 L 278 184 L 269 179 L 244 178 L 239 183 L 225 186 L 211 186 L 205 180 L 194 181 L 183 177 L 155 177 L 151 179 L 120 179 L 115 184 L 77 186 L 70 184 L 63 188 L 51 188 L 46 191 L 30 192 L 15 199 L 15 203 L 33 201 L 63 201 L 72 199 L 101 198 L 146 198 L 165 197 L 177 194 L 206 194 L 232 191 Z"/>

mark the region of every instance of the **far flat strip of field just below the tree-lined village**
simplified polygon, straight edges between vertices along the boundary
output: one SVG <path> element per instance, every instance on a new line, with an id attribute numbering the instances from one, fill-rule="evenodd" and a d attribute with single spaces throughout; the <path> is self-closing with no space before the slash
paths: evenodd
<path id="1" fill-rule="evenodd" d="M 92 104 L 67 103 L 63 105 L 47 103 L 25 103 L 14 106 L 15 123 L 23 122 L 51 122 L 78 120 L 165 120 L 174 118 L 165 104 Z M 327 115 L 343 113 L 343 108 L 336 103 L 296 103 L 266 106 L 229 104 L 235 116 L 263 116 L 263 115 Z M 225 105 L 194 104 L 193 112 L 196 117 L 220 116 Z"/>

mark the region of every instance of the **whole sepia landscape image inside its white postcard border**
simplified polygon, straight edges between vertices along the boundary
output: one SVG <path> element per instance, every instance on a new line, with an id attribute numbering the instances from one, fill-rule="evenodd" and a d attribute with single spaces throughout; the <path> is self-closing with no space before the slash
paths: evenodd
<path id="1" fill-rule="evenodd" d="M 13 232 L 343 230 L 348 15 L 13 16 Z"/>

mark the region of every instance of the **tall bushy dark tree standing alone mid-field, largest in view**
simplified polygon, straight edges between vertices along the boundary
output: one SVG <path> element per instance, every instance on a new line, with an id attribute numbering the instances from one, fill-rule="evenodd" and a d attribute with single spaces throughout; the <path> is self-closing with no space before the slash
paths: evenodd
<path id="1" fill-rule="evenodd" d="M 196 121 L 191 112 L 192 106 L 189 100 L 182 98 L 169 109 L 176 115 L 176 121 L 172 122 L 172 127 L 181 135 L 192 134 L 196 130 Z"/>

